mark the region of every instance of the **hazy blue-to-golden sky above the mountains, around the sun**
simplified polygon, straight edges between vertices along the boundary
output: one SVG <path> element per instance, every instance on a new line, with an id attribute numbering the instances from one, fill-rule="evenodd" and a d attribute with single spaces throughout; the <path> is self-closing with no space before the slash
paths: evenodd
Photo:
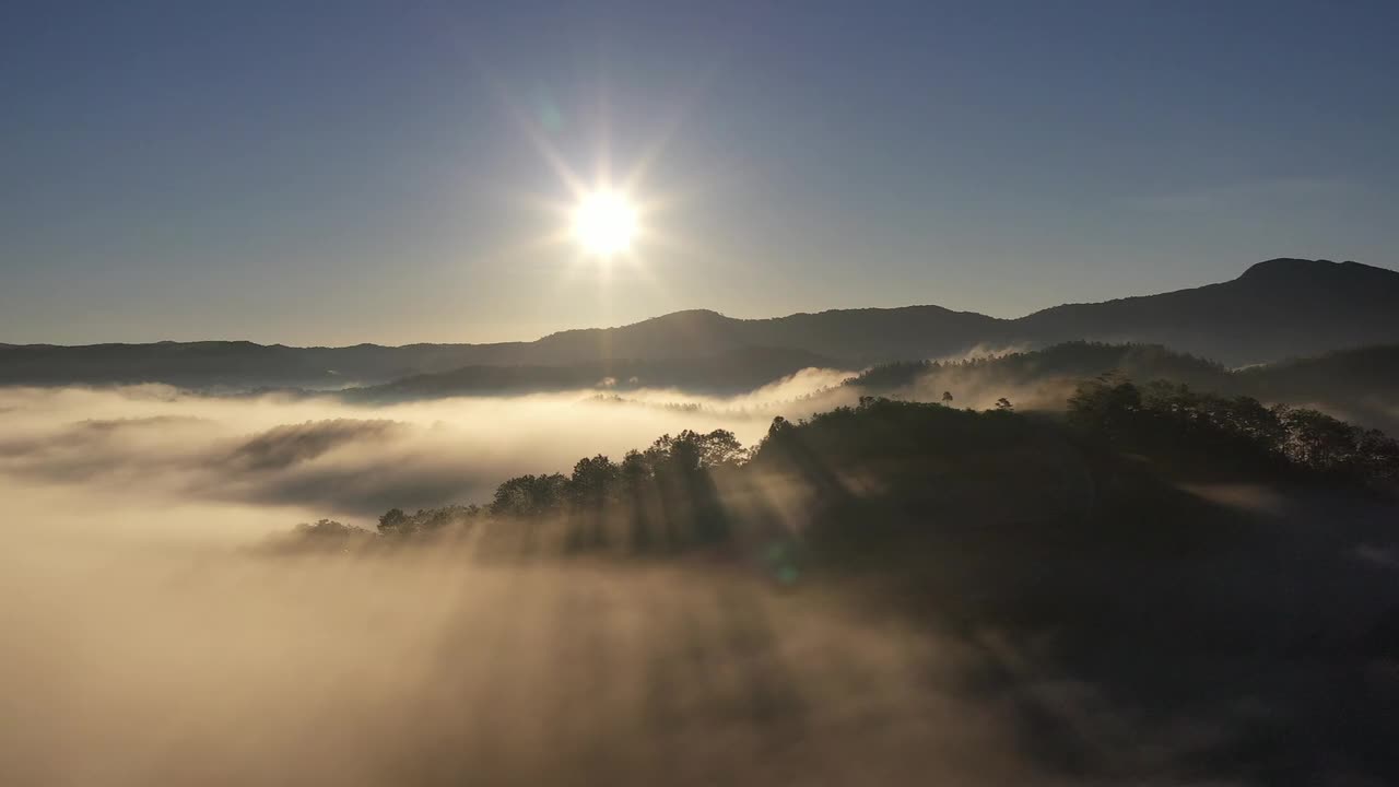
<path id="1" fill-rule="evenodd" d="M 0 342 L 1014 316 L 1396 262 L 1399 3 L 492 6 L 6 3 Z M 649 161 L 637 259 L 547 241 L 544 148 Z"/>

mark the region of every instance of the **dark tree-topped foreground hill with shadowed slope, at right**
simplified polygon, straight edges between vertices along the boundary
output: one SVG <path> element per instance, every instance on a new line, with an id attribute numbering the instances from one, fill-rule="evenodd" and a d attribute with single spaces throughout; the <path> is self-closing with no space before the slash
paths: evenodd
<path id="1" fill-rule="evenodd" d="M 908 620 L 940 637 L 943 657 L 968 654 L 963 696 L 1010 709 L 1044 767 L 992 783 L 1382 784 L 1399 774 L 1395 503 L 1385 492 L 1396 480 L 1393 441 L 1319 413 L 1090 382 L 1066 422 L 865 399 L 778 419 L 751 454 L 722 430 L 687 431 L 621 462 L 590 457 L 571 475 L 509 479 L 487 506 L 395 508 L 378 532 L 323 521 L 287 546 L 497 566 L 634 569 L 641 556 L 708 566 L 687 587 L 712 592 L 730 626 L 709 639 L 693 611 L 676 612 L 679 653 L 652 669 L 677 671 L 667 674 L 701 699 L 662 706 L 637 725 L 641 739 L 676 720 L 686 735 L 708 718 L 753 720 L 782 737 L 767 756 L 809 759 L 831 730 L 831 695 L 790 676 L 821 665 L 831 681 L 821 689 L 870 685 L 839 647 L 778 658 L 783 640 L 760 606 L 723 590 L 725 567 L 751 567 L 813 609 L 835 601 L 870 620 Z M 595 604 L 578 601 L 562 618 L 597 620 Z M 551 653 L 628 641 L 582 629 Z M 765 668 L 743 672 L 741 704 L 726 709 L 719 675 L 747 664 L 750 648 Z M 645 683 L 652 669 L 624 669 L 618 682 Z M 908 681 L 900 696 L 921 697 L 926 685 Z M 877 724 L 872 702 L 842 735 Z M 921 751 L 901 742 L 869 767 Z M 783 773 L 818 783 L 810 770 Z"/>

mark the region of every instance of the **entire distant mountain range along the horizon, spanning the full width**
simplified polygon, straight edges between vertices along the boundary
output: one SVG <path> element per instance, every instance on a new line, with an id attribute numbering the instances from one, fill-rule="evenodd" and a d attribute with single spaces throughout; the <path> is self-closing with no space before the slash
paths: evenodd
<path id="1" fill-rule="evenodd" d="M 620 328 L 564 330 L 534 342 L 495 344 L 0 344 L 0 384 L 339 388 L 464 367 L 582 367 L 590 374 L 593 367 L 624 361 L 741 358 L 751 349 L 785 350 L 793 353 L 790 357 L 809 353 L 856 368 L 956 356 L 978 347 L 1041 347 L 1079 339 L 1165 344 L 1228 365 L 1399 343 L 1399 273 L 1356 262 L 1272 259 L 1220 284 L 1066 304 L 1018 319 L 935 305 L 771 319 L 734 319 L 697 309 Z M 658 378 L 656 384 L 674 382 Z"/>

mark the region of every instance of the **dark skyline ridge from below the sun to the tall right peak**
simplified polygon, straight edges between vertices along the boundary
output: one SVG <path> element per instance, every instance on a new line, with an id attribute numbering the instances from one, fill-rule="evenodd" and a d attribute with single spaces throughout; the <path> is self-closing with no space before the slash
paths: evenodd
<path id="1" fill-rule="evenodd" d="M 1066 304 L 1018 319 L 933 305 L 772 319 L 686 311 L 623 328 L 565 330 L 519 351 L 527 363 L 567 363 L 593 354 L 695 357 L 761 346 L 863 365 L 1076 339 L 1167 344 L 1230 365 L 1399 342 L 1399 273 L 1356 262 L 1272 259 L 1221 284 Z"/>

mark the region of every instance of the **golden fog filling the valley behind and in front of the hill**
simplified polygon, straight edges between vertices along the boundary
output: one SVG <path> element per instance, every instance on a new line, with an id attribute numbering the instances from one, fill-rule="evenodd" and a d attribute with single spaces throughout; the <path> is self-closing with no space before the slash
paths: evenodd
<path id="1" fill-rule="evenodd" d="M 673 403 L 0 391 L 0 783 L 1046 783 L 964 644 L 743 571 L 242 549 L 804 408 Z"/>

